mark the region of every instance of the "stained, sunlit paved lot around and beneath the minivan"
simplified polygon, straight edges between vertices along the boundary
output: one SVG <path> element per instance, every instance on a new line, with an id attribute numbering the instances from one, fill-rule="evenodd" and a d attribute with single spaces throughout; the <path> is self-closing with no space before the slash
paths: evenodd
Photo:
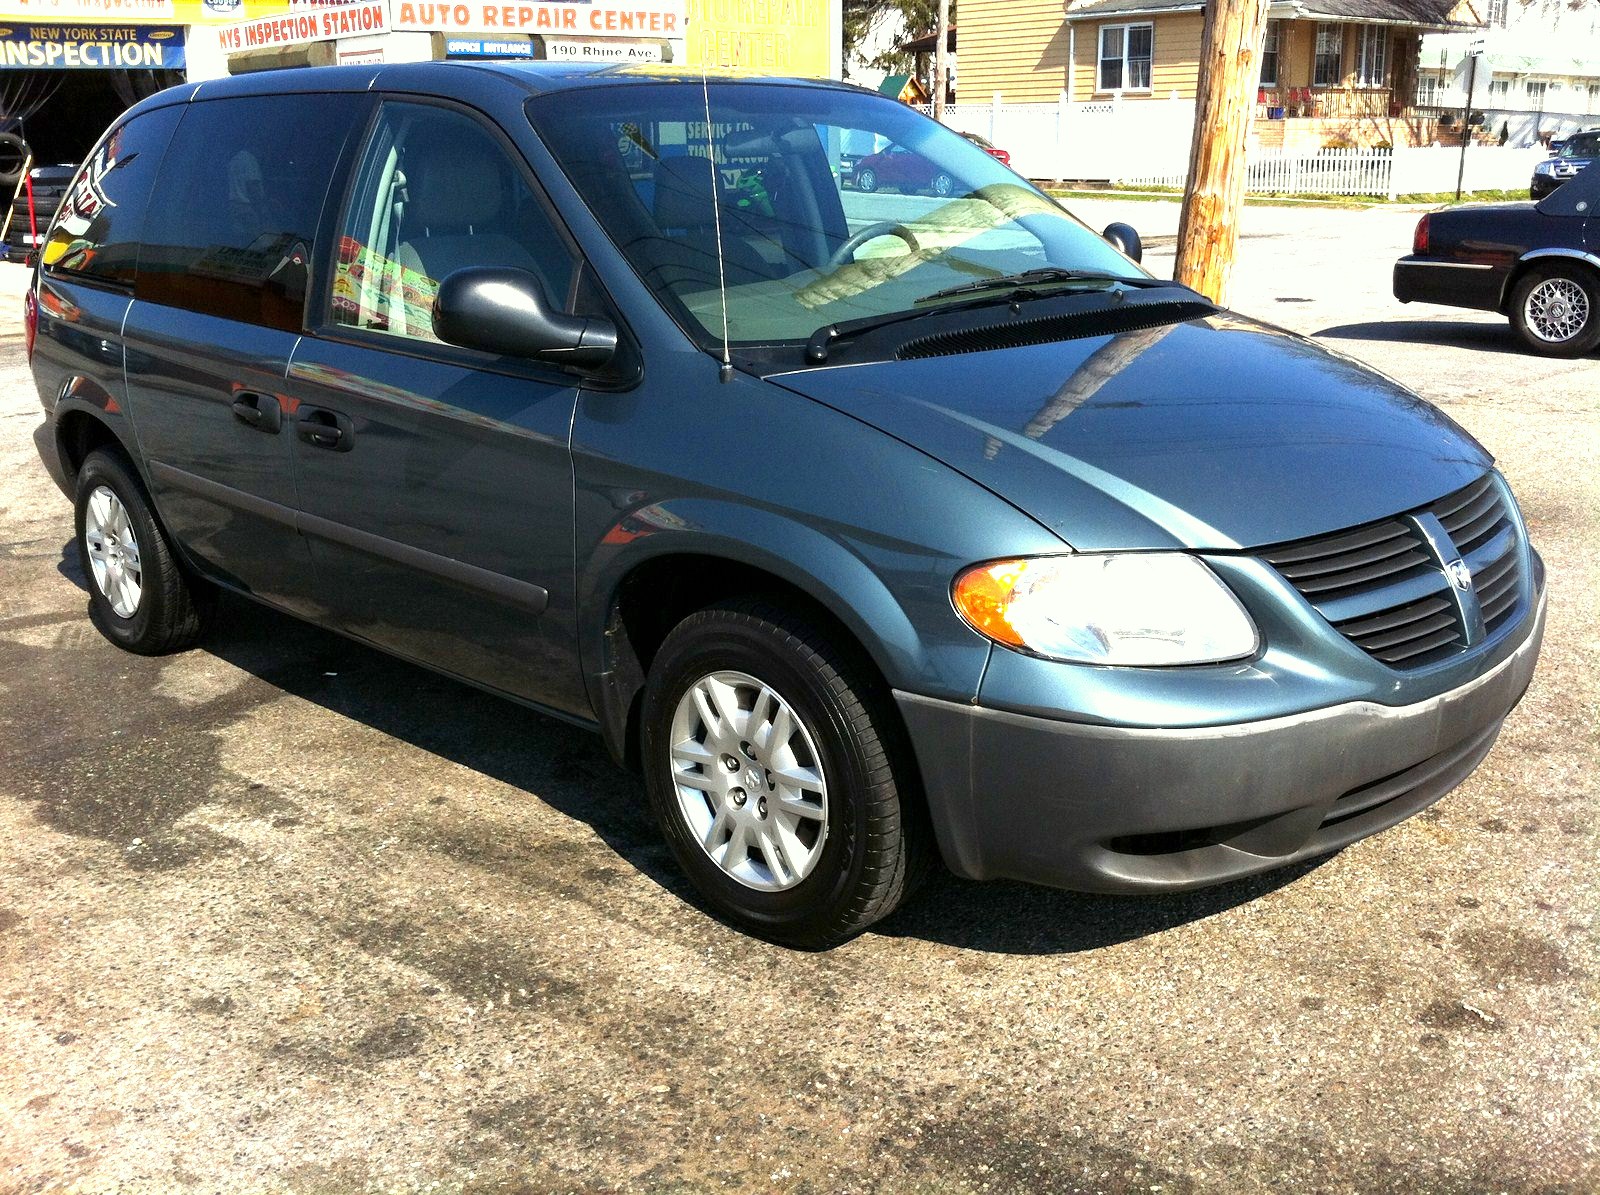
<path id="1" fill-rule="evenodd" d="M 1078 208 L 1170 267 L 1174 205 Z M 1486 765 L 1290 873 L 939 878 L 826 955 L 704 915 L 579 731 L 242 603 L 102 641 L 0 267 L 0 1190 L 1600 1189 L 1597 366 L 1395 306 L 1413 219 L 1250 208 L 1232 298 L 1522 496 L 1550 625 Z"/>

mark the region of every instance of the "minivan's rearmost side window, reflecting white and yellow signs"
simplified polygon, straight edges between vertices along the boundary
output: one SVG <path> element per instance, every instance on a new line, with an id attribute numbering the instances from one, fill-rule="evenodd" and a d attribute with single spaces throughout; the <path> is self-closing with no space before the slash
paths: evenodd
<path id="1" fill-rule="evenodd" d="M 158 107 L 101 141 L 61 202 L 40 261 L 45 270 L 128 285 L 147 198 L 182 107 Z"/>

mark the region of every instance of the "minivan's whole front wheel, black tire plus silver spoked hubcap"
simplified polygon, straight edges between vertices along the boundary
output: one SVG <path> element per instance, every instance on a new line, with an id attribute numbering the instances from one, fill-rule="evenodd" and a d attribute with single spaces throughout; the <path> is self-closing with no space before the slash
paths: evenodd
<path id="1" fill-rule="evenodd" d="M 878 688 L 834 635 L 762 601 L 702 609 L 662 643 L 645 686 L 646 792 L 696 889 L 741 928 L 835 945 L 925 870 Z"/>

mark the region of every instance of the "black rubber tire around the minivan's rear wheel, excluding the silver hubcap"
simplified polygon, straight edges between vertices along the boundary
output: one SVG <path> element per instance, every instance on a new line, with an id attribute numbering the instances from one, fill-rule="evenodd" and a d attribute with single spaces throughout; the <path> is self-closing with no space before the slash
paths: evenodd
<path id="1" fill-rule="evenodd" d="M 90 502 L 101 488 L 122 504 L 138 544 L 141 592 L 126 614 L 117 613 L 98 581 L 85 536 Z M 88 454 L 78 469 L 75 506 L 78 565 L 90 589 L 90 617 L 99 632 L 118 648 L 141 656 L 165 656 L 194 646 L 210 613 L 211 590 L 179 566 L 166 533 L 155 522 L 149 494 L 120 451 L 98 448 Z"/>

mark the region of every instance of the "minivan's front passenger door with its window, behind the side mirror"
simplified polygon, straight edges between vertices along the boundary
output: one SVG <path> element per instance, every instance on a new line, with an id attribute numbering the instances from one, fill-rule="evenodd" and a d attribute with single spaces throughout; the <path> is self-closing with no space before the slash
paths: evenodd
<path id="1" fill-rule="evenodd" d="M 301 531 L 344 630 L 587 715 L 568 453 L 578 387 L 438 342 L 438 280 L 469 266 L 525 269 L 557 306 L 576 272 L 498 131 L 451 106 L 382 102 L 320 326 L 290 368 Z"/>

